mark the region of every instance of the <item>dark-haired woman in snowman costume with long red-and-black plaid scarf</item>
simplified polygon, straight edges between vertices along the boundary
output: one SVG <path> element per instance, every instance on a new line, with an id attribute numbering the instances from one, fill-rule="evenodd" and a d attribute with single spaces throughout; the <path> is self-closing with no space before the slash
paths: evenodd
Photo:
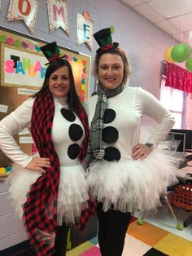
<path id="1" fill-rule="evenodd" d="M 43 86 L 0 121 L 0 148 L 18 164 L 13 166 L 11 197 L 37 256 L 63 256 L 69 226 L 83 227 L 95 208 L 94 202 L 89 204 L 81 166 L 89 126 L 68 60 L 61 58 L 56 42 L 41 51 L 49 61 Z M 22 152 L 13 139 L 25 127 L 32 133 L 36 156 Z"/>

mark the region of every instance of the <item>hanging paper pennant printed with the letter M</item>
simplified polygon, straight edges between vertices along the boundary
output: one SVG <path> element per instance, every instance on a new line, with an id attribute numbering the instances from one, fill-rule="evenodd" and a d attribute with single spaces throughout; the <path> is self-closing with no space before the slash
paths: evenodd
<path id="1" fill-rule="evenodd" d="M 47 0 L 50 32 L 61 27 L 69 35 L 68 0 Z"/>

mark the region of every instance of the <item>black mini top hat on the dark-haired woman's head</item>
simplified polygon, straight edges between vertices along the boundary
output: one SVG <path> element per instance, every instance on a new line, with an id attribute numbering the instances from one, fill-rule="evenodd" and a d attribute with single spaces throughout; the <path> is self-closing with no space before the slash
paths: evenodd
<path id="1" fill-rule="evenodd" d="M 40 49 L 42 53 L 46 56 L 46 59 L 49 61 L 45 65 L 48 65 L 55 60 L 63 58 L 63 56 L 60 56 L 59 46 L 56 42 L 50 42 L 45 46 L 41 46 Z"/>

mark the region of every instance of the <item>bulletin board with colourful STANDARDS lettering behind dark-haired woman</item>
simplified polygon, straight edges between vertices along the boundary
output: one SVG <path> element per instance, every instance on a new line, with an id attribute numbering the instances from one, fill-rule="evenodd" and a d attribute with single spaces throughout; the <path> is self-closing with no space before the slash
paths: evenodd
<path id="1" fill-rule="evenodd" d="M 40 90 L 47 63 L 40 47 L 48 42 L 26 37 L 0 28 L 0 120 L 17 108 L 28 95 Z M 84 103 L 89 95 L 90 56 L 59 46 L 61 55 L 72 65 L 76 91 Z M 33 142 L 28 131 L 15 137 L 20 148 L 33 152 Z M 0 150 L 0 166 L 11 161 Z"/>

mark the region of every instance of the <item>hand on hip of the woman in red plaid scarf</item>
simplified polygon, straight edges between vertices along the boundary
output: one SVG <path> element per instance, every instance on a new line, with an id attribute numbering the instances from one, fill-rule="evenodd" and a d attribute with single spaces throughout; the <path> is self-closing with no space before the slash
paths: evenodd
<path id="1" fill-rule="evenodd" d="M 42 174 L 46 173 L 46 170 L 43 168 L 50 167 L 50 159 L 46 157 L 33 157 L 32 160 L 25 166 L 26 169 L 29 170 L 38 170 L 41 171 Z"/>

